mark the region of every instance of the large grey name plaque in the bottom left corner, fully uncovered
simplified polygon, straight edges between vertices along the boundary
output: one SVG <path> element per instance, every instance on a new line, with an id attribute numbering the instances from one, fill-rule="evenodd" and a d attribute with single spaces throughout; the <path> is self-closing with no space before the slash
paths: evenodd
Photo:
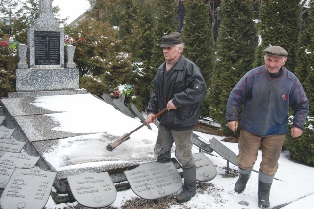
<path id="1" fill-rule="evenodd" d="M 15 168 L 1 195 L 2 209 L 42 209 L 45 207 L 57 172 L 38 166 Z"/>

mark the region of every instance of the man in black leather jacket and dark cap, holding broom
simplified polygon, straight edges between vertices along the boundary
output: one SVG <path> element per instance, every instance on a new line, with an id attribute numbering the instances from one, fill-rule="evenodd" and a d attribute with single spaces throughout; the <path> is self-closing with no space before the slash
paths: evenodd
<path id="1" fill-rule="evenodd" d="M 196 193 L 196 167 L 192 156 L 192 132 L 197 123 L 201 102 L 206 95 L 206 83 L 195 63 L 181 53 L 181 34 L 172 32 L 161 38 L 165 62 L 157 70 L 147 112 L 147 123 L 167 107 L 160 115 L 159 130 L 155 145 L 157 162 L 171 160 L 171 148 L 175 143 L 175 155 L 182 164 L 184 187 L 177 196 L 178 202 L 189 201 Z"/>

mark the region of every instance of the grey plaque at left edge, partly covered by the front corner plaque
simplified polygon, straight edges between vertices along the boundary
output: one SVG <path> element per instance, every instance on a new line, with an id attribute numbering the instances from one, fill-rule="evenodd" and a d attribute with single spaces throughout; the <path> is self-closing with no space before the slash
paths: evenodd
<path id="1" fill-rule="evenodd" d="M 28 155 L 26 152 L 5 152 L 0 158 L 0 188 L 4 189 L 14 171 L 14 168 L 34 167 L 40 157 Z"/>

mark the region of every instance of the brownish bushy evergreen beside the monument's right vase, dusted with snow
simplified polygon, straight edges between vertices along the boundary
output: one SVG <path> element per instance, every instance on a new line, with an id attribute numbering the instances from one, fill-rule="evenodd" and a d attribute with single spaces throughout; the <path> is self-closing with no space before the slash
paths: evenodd
<path id="1" fill-rule="evenodd" d="M 87 17 L 76 27 L 66 27 L 65 34 L 75 39 L 83 39 L 82 42 L 74 44 L 74 62 L 83 77 L 80 78 L 80 87 L 86 87 L 89 92 L 100 96 L 103 92 L 110 93 L 110 89 L 113 91 L 120 84 L 130 84 L 131 54 L 123 50 L 118 31 L 109 23 Z"/>

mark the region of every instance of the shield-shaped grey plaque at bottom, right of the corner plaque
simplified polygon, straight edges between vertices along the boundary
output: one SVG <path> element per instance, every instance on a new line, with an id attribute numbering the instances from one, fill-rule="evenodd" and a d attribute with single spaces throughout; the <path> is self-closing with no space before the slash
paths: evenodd
<path id="1" fill-rule="evenodd" d="M 79 204 L 88 208 L 102 208 L 111 205 L 117 190 L 108 172 L 85 172 L 67 176 L 73 197 Z"/>

